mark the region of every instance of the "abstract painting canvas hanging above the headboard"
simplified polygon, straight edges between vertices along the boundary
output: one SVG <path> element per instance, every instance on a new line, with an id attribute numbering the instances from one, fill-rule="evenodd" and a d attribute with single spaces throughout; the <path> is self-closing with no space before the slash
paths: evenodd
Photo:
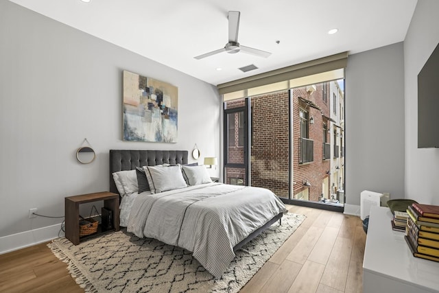
<path id="1" fill-rule="evenodd" d="M 123 71 L 123 140 L 177 142 L 178 88 Z"/>

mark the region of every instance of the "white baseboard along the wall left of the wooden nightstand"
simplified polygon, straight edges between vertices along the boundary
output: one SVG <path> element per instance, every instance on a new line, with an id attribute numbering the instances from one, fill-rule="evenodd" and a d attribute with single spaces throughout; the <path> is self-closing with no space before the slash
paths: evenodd
<path id="1" fill-rule="evenodd" d="M 0 237 L 0 255 L 64 236 L 60 224 Z"/>

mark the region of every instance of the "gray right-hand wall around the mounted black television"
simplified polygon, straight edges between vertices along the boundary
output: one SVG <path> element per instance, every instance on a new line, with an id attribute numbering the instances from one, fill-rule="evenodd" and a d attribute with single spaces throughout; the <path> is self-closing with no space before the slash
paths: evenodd
<path id="1" fill-rule="evenodd" d="M 431 52 L 439 43 L 438 15 L 439 1 L 418 1 L 404 41 L 405 198 L 412 198 L 425 204 L 439 204 L 439 149 L 417 148 L 417 77 L 420 69 L 423 68 Z M 438 79 L 438 76 L 439 69 L 436 79 Z M 439 99 L 439 91 L 436 94 L 436 99 Z M 438 125 L 431 125 L 430 131 L 438 135 Z"/>

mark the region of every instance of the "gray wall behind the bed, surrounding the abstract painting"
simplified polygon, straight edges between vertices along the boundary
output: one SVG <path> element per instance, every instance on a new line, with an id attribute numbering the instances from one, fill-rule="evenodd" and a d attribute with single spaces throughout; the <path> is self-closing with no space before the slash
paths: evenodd
<path id="1" fill-rule="evenodd" d="M 121 141 L 123 70 L 178 86 L 178 143 Z M 65 196 L 108 190 L 112 148 L 220 156 L 221 104 L 211 84 L 0 0 L 0 237 L 62 221 L 30 208 L 64 215 Z M 84 138 L 89 165 L 75 159 Z"/>

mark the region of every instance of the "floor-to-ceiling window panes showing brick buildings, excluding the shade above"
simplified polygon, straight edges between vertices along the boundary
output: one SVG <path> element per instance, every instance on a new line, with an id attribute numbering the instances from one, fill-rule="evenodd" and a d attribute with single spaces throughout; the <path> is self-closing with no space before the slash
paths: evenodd
<path id="1" fill-rule="evenodd" d="M 289 200 L 343 204 L 342 84 L 334 80 L 225 102 L 225 182 L 268 188 Z"/>

